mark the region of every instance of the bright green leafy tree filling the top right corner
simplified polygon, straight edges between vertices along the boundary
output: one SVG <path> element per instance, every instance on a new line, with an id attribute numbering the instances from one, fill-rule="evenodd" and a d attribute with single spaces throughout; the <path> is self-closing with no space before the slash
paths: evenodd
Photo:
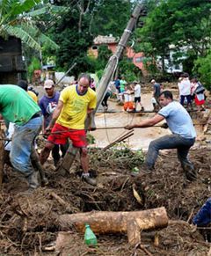
<path id="1" fill-rule="evenodd" d="M 211 29 L 209 1 L 153 0 L 148 5 L 149 15 L 136 33 L 141 41 L 138 49 L 154 60 L 161 56 L 163 71 L 164 58 L 169 57 L 172 48 L 180 56 L 188 56 L 188 49 L 196 58 L 207 55 Z"/>

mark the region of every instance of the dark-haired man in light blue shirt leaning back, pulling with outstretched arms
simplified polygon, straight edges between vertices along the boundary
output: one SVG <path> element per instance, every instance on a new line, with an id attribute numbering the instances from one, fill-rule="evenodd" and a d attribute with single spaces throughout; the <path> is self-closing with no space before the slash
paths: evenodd
<path id="1" fill-rule="evenodd" d="M 172 132 L 172 135 L 164 135 L 149 144 L 148 154 L 143 164 L 146 169 L 142 171 L 145 173 L 152 172 L 159 150 L 177 149 L 178 160 L 186 173 L 186 178 L 194 180 L 196 179 L 196 172 L 187 158 L 196 137 L 193 121 L 186 109 L 173 100 L 171 91 L 163 91 L 160 94 L 159 103 L 162 109 L 153 118 L 125 127 L 126 129 L 148 128 L 165 119 L 167 122 L 166 128 L 169 127 Z"/>

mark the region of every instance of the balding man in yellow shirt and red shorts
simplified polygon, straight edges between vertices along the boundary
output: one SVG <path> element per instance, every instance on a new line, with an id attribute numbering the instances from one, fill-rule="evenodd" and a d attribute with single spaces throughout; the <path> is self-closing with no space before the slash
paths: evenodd
<path id="1" fill-rule="evenodd" d="M 96 185 L 96 179 L 90 177 L 89 159 L 84 121 L 97 104 L 96 92 L 91 90 L 91 77 L 81 74 L 78 83 L 66 87 L 60 95 L 58 105 L 53 113 L 46 131 L 51 130 L 47 137 L 45 148 L 40 152 L 40 163 L 43 165 L 55 144 L 65 144 L 69 138 L 73 147 L 80 149 L 82 178 L 91 185 Z"/>

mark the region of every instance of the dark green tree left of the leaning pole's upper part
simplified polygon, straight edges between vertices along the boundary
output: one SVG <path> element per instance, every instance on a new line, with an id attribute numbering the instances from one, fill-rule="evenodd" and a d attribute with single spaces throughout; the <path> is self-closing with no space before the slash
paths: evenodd
<path id="1" fill-rule="evenodd" d="M 61 0 L 60 3 L 69 7 L 69 11 L 60 17 L 49 31 L 60 46 L 56 55 L 56 66 L 67 70 L 73 62 L 76 62 L 75 69 L 71 71 L 75 76 L 84 71 L 93 72 L 94 69 L 104 69 L 108 59 L 102 67 L 101 61 L 98 64 L 90 57 L 87 58 L 87 50 L 98 34 L 113 33 L 113 36 L 117 37 L 123 33 L 129 18 L 130 2 L 126 0 L 80 0 L 73 3 Z M 46 55 L 53 54 L 53 51 L 46 52 Z"/>

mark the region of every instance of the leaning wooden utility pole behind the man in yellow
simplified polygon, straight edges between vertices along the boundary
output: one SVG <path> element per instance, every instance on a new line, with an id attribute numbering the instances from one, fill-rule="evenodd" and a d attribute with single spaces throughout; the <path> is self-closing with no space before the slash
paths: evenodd
<path id="1" fill-rule="evenodd" d="M 95 123 L 94 123 L 94 114 L 96 113 L 98 106 L 100 105 L 101 101 L 104 98 L 107 86 L 110 83 L 115 70 L 117 69 L 118 62 L 120 60 L 120 56 L 122 55 L 124 49 L 127 47 L 127 41 L 135 29 L 137 20 L 140 17 L 142 11 L 144 11 L 144 7 L 142 4 L 143 0 L 140 2 L 141 2 L 140 4 L 137 4 L 135 6 L 135 10 L 133 11 L 133 13 L 127 23 L 127 27 L 124 30 L 124 33 L 122 34 L 122 36 L 120 38 L 120 42 L 116 48 L 116 52 L 109 59 L 107 65 L 106 65 L 106 69 L 104 70 L 104 75 L 99 81 L 98 88 L 97 88 L 97 106 L 96 106 L 95 111 L 91 113 L 89 118 L 87 118 L 87 120 L 85 122 L 86 128 L 91 127 L 93 130 L 96 128 Z M 71 145 L 69 146 L 69 149 L 68 149 L 66 155 L 63 157 L 62 164 L 58 168 L 59 172 L 61 172 L 61 173 L 69 172 L 69 169 L 76 157 L 77 152 L 78 152 L 78 149 L 72 148 Z"/>

